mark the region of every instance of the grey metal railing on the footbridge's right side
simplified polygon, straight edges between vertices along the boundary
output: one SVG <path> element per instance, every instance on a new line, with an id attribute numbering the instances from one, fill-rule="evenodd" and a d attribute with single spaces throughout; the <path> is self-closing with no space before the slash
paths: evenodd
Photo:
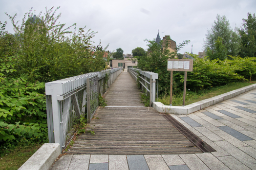
<path id="1" fill-rule="evenodd" d="M 149 94 L 149 107 L 152 102 L 155 102 L 156 98 L 156 80 L 158 80 L 158 74 L 149 71 L 142 71 L 137 68 L 128 68 L 128 72 L 131 77 L 141 85 L 142 92 Z"/>

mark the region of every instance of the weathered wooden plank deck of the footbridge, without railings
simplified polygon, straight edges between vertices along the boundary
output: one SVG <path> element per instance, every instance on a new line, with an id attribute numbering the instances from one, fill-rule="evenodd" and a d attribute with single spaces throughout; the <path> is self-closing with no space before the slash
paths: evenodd
<path id="1" fill-rule="evenodd" d="M 67 153 L 202 153 L 161 114 L 143 107 L 139 90 L 129 73 L 121 73 L 105 96 L 108 107 L 98 109 L 97 119 L 92 119 L 86 129 L 94 131 L 95 135 L 78 136 Z"/>

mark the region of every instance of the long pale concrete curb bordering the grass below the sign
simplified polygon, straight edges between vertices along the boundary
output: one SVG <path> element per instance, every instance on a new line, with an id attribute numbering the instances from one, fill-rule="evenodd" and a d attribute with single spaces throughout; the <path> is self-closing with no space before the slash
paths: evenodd
<path id="1" fill-rule="evenodd" d="M 161 102 L 153 102 L 153 108 L 160 113 L 172 113 L 177 115 L 189 115 L 198 110 L 204 109 L 206 107 L 212 106 L 218 102 L 223 102 L 230 98 L 233 98 L 239 94 L 245 93 L 247 91 L 253 90 L 256 88 L 256 84 L 248 85 L 209 99 L 205 99 L 199 102 L 194 102 L 186 106 L 167 106 Z"/>

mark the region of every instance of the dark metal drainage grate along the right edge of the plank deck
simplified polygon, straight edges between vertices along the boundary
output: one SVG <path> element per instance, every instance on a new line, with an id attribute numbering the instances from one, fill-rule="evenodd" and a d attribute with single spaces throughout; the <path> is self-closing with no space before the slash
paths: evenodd
<path id="1" fill-rule="evenodd" d="M 160 113 L 165 119 L 167 119 L 176 129 L 178 129 L 184 136 L 186 136 L 197 148 L 203 153 L 216 152 L 211 146 L 205 143 L 198 136 L 194 135 L 188 128 L 182 125 L 179 121 L 174 119 L 171 115 Z"/>

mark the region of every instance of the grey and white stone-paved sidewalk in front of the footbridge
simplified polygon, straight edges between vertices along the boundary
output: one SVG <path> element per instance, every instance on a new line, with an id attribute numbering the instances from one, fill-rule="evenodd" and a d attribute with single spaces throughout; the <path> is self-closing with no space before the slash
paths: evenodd
<path id="1" fill-rule="evenodd" d="M 50 170 L 256 170 L 256 89 L 187 116 L 171 116 L 217 152 L 69 154 Z"/>

